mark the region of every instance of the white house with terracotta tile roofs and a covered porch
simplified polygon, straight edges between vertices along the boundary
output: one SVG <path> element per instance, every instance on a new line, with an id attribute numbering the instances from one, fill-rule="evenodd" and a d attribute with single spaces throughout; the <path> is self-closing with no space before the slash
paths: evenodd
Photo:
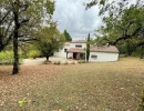
<path id="1" fill-rule="evenodd" d="M 62 57 L 68 59 L 85 60 L 85 40 L 78 40 L 65 42 L 62 50 L 54 52 L 55 57 Z M 91 46 L 90 47 L 90 58 L 89 61 L 117 61 L 119 60 L 119 50 L 114 46 Z"/>

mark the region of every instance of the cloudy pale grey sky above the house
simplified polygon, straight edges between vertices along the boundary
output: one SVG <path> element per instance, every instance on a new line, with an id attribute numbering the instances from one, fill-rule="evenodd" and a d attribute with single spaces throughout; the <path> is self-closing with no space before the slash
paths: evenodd
<path id="1" fill-rule="evenodd" d="M 102 24 L 99 7 L 85 10 L 84 2 L 90 0 L 56 0 L 55 2 L 53 19 L 58 21 L 58 29 L 61 32 L 66 30 L 73 40 L 83 40 L 89 33 L 94 37 L 94 30 Z"/>

